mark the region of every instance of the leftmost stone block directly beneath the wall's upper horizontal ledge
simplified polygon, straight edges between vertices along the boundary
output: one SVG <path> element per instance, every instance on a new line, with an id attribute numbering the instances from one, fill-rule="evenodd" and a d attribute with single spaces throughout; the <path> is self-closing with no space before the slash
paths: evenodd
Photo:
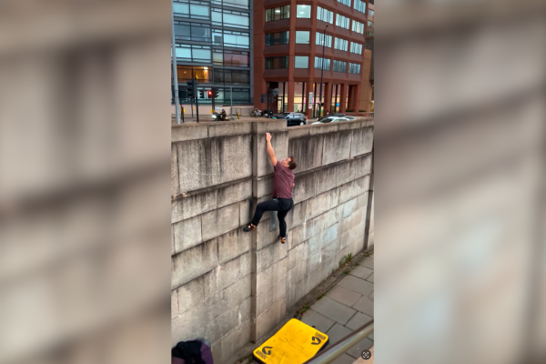
<path id="1" fill-rule="evenodd" d="M 196 217 L 217 208 L 217 190 L 207 190 L 171 202 L 171 223 Z"/>

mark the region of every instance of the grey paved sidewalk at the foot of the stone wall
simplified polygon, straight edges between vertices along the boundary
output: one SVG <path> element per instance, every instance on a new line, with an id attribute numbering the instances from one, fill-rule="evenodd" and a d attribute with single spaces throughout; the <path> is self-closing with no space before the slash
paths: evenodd
<path id="1" fill-rule="evenodd" d="M 359 261 L 323 298 L 303 314 L 302 321 L 329 335 L 330 345 L 373 318 L 373 254 Z M 373 346 L 373 334 L 361 340 L 332 363 L 352 364 L 364 349 Z"/>

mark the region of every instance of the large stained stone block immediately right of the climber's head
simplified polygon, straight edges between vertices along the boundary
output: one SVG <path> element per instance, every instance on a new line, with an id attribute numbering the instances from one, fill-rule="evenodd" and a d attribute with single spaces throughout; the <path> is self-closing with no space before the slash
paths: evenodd
<path id="1" fill-rule="evenodd" d="M 288 155 L 294 156 L 298 173 L 322 166 L 324 136 L 308 136 L 290 139 Z"/>

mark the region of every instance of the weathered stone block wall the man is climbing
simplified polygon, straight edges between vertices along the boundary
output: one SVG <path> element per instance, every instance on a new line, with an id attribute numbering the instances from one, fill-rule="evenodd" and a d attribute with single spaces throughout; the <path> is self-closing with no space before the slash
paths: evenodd
<path id="1" fill-rule="evenodd" d="M 298 162 L 288 242 L 269 214 L 278 159 Z M 216 363 L 261 339 L 288 308 L 364 248 L 373 120 L 286 127 L 282 120 L 173 126 L 171 141 L 172 344 L 203 337 Z"/>

